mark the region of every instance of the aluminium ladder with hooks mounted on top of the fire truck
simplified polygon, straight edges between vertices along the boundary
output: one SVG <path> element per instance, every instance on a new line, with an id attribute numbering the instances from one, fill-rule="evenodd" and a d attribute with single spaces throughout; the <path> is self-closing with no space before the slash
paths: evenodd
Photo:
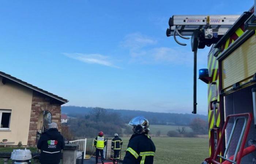
<path id="1" fill-rule="evenodd" d="M 174 36 L 178 44 L 186 46 L 187 44 L 176 39 L 176 34 L 183 39 L 190 39 L 185 36 L 192 36 L 198 31 L 198 48 L 204 48 L 217 43 L 239 17 L 240 15 L 173 15 L 169 19 L 170 27 L 167 28 L 166 35 Z"/>

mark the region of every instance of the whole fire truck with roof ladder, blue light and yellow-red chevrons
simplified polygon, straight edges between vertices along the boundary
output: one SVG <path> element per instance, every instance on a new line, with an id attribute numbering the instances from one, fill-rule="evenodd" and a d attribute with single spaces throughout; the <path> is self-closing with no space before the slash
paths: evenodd
<path id="1" fill-rule="evenodd" d="M 256 5 L 256 1 L 255 1 Z M 190 39 L 194 55 L 196 114 L 197 50 L 206 46 L 209 156 L 203 164 L 256 164 L 256 8 L 242 15 L 173 15 L 166 35 Z"/>

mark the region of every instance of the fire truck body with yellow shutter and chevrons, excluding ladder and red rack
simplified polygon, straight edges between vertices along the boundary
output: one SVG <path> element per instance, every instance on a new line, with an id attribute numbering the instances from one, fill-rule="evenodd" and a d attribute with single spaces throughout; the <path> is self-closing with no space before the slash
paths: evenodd
<path id="1" fill-rule="evenodd" d="M 208 54 L 208 121 L 209 152 L 213 157 L 221 136 L 225 119 L 230 114 L 253 113 L 253 93 L 256 87 L 256 35 L 255 30 L 246 30 L 245 21 L 253 15 L 253 8 L 244 13 L 225 35 L 214 44 Z M 247 14 L 247 15 L 246 15 Z M 214 110 L 215 108 L 215 110 Z M 215 119 L 214 120 L 214 112 Z M 233 128 L 234 119 L 230 120 L 221 153 L 225 152 L 227 141 Z M 234 155 L 241 134 L 243 122 L 239 121 L 234 129 L 226 157 Z M 248 141 L 256 139 L 256 129 L 252 122 L 245 147 Z M 242 164 L 251 164 L 253 153 L 242 158 Z M 221 162 L 222 159 L 219 159 Z"/>

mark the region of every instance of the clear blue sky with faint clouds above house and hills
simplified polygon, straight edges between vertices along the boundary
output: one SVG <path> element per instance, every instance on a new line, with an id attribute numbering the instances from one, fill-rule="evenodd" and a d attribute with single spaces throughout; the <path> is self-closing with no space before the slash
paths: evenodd
<path id="1" fill-rule="evenodd" d="M 191 113 L 193 53 L 166 37 L 172 15 L 230 15 L 253 0 L 0 2 L 0 71 L 69 100 L 65 105 Z M 198 52 L 207 68 L 209 47 Z M 207 85 L 197 81 L 197 111 Z"/>

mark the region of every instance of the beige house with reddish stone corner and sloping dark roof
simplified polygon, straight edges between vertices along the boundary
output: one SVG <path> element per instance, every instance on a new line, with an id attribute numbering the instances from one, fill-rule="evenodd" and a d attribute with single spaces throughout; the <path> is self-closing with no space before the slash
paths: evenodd
<path id="1" fill-rule="evenodd" d="M 34 146 L 48 123 L 61 130 L 61 105 L 68 100 L 0 71 L 0 144 Z"/>

